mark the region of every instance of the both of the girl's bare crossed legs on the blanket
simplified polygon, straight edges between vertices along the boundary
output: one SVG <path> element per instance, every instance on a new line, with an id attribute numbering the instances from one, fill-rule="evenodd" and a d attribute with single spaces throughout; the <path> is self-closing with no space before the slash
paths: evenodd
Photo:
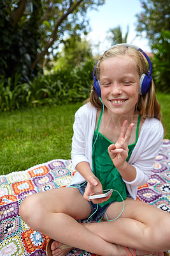
<path id="1" fill-rule="evenodd" d="M 111 204 L 106 212 L 109 220 L 112 220 L 121 211 L 122 203 L 116 202 Z M 88 218 L 90 212 L 89 202 L 74 188 L 53 189 L 34 194 L 25 198 L 20 206 L 22 220 L 32 229 L 52 237 L 59 243 L 98 255 L 127 255 L 120 244 L 149 252 L 169 250 L 170 214 L 166 212 L 127 199 L 123 214 L 115 221 L 85 225 L 76 221 Z M 54 247 L 54 244 L 52 246 Z M 138 251 L 137 255 L 145 255 L 144 253 Z M 65 254 L 62 251 L 56 255 Z"/>

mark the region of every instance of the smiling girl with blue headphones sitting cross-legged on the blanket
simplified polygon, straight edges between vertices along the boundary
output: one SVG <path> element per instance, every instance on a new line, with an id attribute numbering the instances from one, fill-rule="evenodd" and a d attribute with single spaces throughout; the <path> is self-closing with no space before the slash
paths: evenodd
<path id="1" fill-rule="evenodd" d="M 115 45 L 97 61 L 90 102 L 74 120 L 72 187 L 28 196 L 20 206 L 29 227 L 52 237 L 48 256 L 66 255 L 74 247 L 102 256 L 169 250 L 170 214 L 135 200 L 164 132 L 152 65 L 143 52 L 148 71 L 141 52 L 134 45 Z M 113 193 L 89 200 L 103 189 Z M 85 218 L 96 222 L 78 223 Z"/>

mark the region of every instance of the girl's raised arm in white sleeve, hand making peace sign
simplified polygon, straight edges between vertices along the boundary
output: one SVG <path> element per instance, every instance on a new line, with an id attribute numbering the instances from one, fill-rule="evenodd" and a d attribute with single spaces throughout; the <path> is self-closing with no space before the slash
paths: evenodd
<path id="1" fill-rule="evenodd" d="M 164 129 L 156 118 L 146 119 L 140 132 L 142 139 L 138 139 L 135 154 L 132 152 L 129 163 L 127 163 L 125 159 L 128 156 L 128 141 L 131 137 L 132 127 L 133 124 L 126 129 L 126 124 L 123 124 L 117 143 L 110 145 L 108 151 L 126 184 L 143 186 L 150 177 L 155 157 L 162 147 Z"/>

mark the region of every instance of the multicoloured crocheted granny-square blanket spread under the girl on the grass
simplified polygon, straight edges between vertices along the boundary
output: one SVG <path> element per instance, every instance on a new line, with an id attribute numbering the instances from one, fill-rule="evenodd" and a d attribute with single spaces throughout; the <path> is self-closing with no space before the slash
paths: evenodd
<path id="1" fill-rule="evenodd" d="M 138 200 L 167 212 L 170 212 L 169 156 L 170 141 L 164 140 L 150 180 L 138 189 Z M 45 247 L 49 237 L 32 230 L 20 219 L 20 204 L 33 193 L 69 185 L 73 175 L 71 160 L 56 159 L 23 172 L 0 176 L 0 256 L 46 255 Z M 75 249 L 68 255 L 85 256 L 92 253 Z"/>

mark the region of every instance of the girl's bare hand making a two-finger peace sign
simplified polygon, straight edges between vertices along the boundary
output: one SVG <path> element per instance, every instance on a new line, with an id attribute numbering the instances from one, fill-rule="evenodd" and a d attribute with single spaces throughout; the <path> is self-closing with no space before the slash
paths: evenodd
<path id="1" fill-rule="evenodd" d="M 127 120 L 125 120 L 122 124 L 122 129 L 117 142 L 108 147 L 111 160 L 117 169 L 124 168 L 125 160 L 127 159 L 129 152 L 128 143 L 131 138 L 133 127 L 134 124 L 132 123 L 127 128 Z"/>

